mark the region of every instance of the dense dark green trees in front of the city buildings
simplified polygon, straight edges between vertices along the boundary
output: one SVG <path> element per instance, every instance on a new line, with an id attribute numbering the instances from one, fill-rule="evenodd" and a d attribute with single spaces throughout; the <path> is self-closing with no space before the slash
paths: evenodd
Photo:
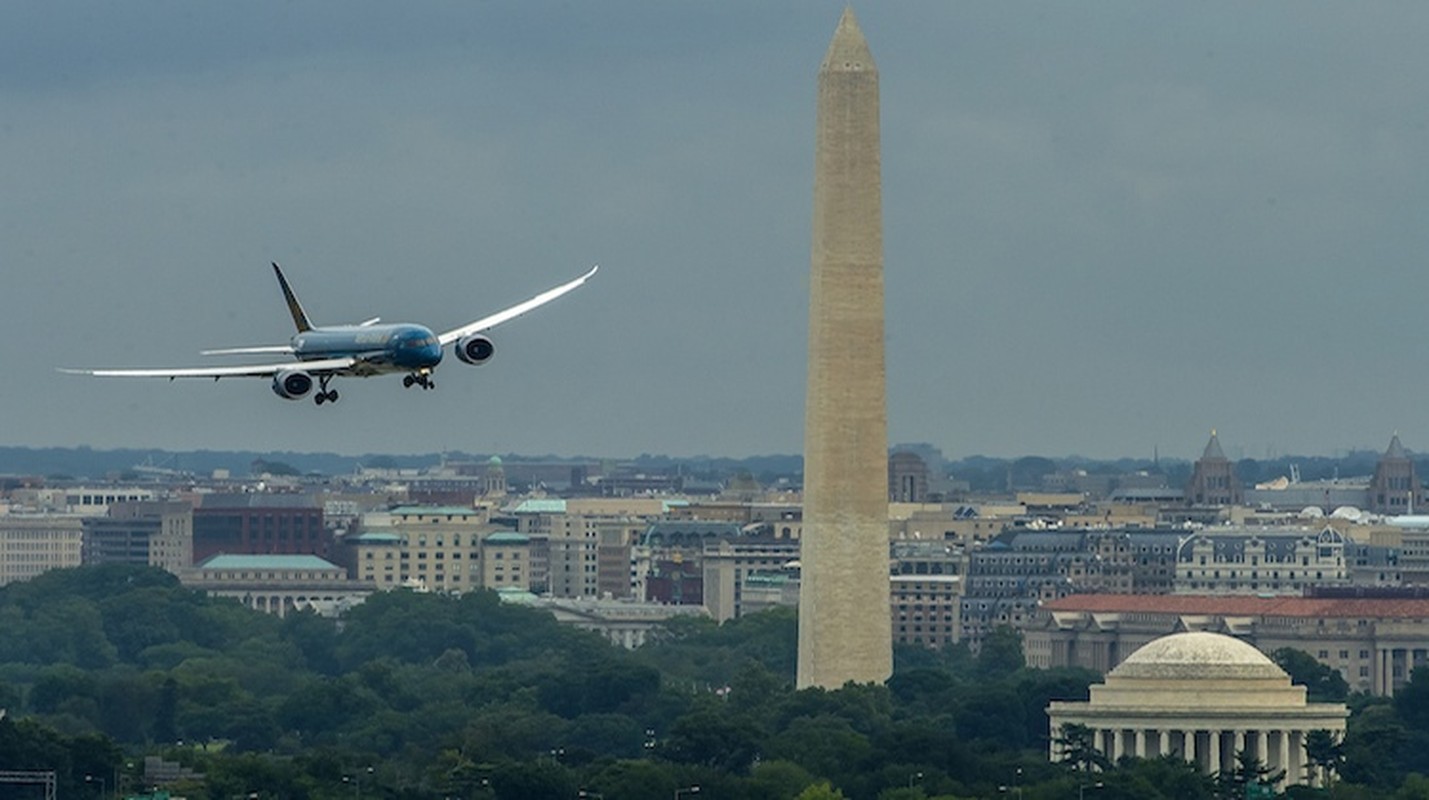
<path id="1" fill-rule="evenodd" d="M 1169 761 L 1049 764 L 1043 710 L 1097 676 L 1022 669 L 1009 630 L 976 659 L 899 650 L 887 686 L 795 691 L 795 626 L 787 610 L 680 620 L 630 653 L 490 593 L 377 594 L 339 626 L 257 614 L 159 570 L 54 571 L 0 589 L 0 769 L 57 770 L 61 794 L 90 800 L 143 789 L 144 754 L 203 773 L 177 787 L 196 800 L 1225 791 Z M 1403 700 L 1359 703 L 1336 793 L 1418 786 L 1420 677 Z M 33 796 L 20 791 L 0 784 L 0 799 Z"/>

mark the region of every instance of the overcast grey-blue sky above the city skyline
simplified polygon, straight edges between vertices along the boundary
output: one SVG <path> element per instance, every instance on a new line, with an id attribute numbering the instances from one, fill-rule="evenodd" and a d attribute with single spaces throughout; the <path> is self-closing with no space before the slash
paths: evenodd
<path id="1" fill-rule="evenodd" d="M 0 443 L 799 453 L 840 1 L 7 3 Z M 1429 4 L 896 3 L 889 434 L 949 457 L 1429 450 Z M 437 390 L 87 379 L 316 321 Z M 224 361 L 231 363 L 231 361 Z"/>

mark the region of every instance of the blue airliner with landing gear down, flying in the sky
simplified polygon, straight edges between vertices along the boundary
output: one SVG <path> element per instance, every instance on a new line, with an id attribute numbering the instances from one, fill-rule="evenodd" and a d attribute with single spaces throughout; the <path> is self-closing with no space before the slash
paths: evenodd
<path id="1" fill-rule="evenodd" d="M 510 309 L 496 311 L 494 314 L 439 334 L 420 324 L 382 324 L 380 317 L 347 326 L 314 326 L 309 321 L 303 304 L 297 301 L 293 287 L 283 277 L 283 269 L 274 261 L 273 273 L 277 276 L 279 287 L 283 290 L 283 299 L 287 301 L 287 310 L 293 316 L 293 324 L 297 327 L 293 339 L 287 344 L 227 347 L 221 350 L 204 350 L 201 354 L 253 356 L 282 353 L 292 356 L 293 360 L 243 367 L 181 367 L 169 370 L 60 369 L 60 371 L 99 377 L 167 377 L 169 380 L 176 377 L 211 377 L 213 380 L 224 377 L 272 377 L 273 393 L 284 400 L 302 400 L 312 394 L 316 384 L 319 389 L 313 394 L 313 401 L 319 406 L 337 401 L 337 390 L 327 387 L 329 381 L 337 376 L 370 377 L 376 374 L 406 373 L 402 384 L 407 389 L 413 386 L 436 389 L 432 371 L 442 363 L 442 353 L 447 344 L 454 344 L 456 357 L 463 364 L 484 364 L 492 360 L 496 346 L 483 331 L 579 289 L 599 269 L 599 266 L 593 266 L 576 280 L 547 289 L 524 303 L 517 303 Z"/>

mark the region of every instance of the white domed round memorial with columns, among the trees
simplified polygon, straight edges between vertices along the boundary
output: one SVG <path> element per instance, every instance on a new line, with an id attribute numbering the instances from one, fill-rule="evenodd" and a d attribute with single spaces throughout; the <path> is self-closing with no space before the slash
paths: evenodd
<path id="1" fill-rule="evenodd" d="M 1122 756 L 1175 756 L 1218 774 L 1235 767 L 1236 753 L 1249 751 L 1285 783 L 1318 783 L 1308 770 L 1305 737 L 1328 730 L 1345 736 L 1343 703 L 1306 703 L 1305 687 L 1263 653 L 1219 633 L 1175 633 L 1127 656 L 1092 686 L 1085 703 L 1055 700 L 1052 760 L 1063 724 L 1093 731 L 1096 749 L 1110 760 Z"/>

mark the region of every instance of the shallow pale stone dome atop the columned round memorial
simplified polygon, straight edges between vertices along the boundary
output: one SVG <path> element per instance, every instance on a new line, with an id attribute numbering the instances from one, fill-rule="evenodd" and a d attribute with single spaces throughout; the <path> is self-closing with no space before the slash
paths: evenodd
<path id="1" fill-rule="evenodd" d="M 1116 677 L 1149 679 L 1286 679 L 1265 653 L 1220 633 L 1163 636 L 1136 650 L 1112 670 Z"/>

